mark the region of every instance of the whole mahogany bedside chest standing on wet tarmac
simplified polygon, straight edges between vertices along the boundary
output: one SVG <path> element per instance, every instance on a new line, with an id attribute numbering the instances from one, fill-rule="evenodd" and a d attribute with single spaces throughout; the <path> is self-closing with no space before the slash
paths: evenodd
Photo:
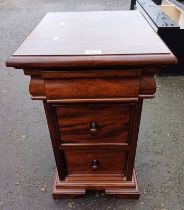
<path id="1" fill-rule="evenodd" d="M 139 198 L 142 102 L 154 97 L 154 73 L 176 62 L 138 11 L 43 18 L 7 66 L 30 75 L 32 99 L 43 101 L 57 166 L 54 198 L 88 190 Z"/>

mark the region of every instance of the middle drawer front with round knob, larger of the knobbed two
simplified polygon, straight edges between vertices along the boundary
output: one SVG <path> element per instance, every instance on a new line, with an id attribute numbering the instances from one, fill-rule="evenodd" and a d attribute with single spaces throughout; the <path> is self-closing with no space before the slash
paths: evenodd
<path id="1" fill-rule="evenodd" d="M 60 137 L 67 143 L 128 142 L 132 105 L 56 106 Z"/>

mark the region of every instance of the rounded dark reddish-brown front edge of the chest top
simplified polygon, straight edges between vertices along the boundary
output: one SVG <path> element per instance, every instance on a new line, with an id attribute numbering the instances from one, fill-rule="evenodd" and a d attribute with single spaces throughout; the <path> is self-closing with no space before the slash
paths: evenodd
<path id="1" fill-rule="evenodd" d="M 101 55 L 101 56 L 10 56 L 7 67 L 22 68 L 76 68 L 123 67 L 176 64 L 171 54 Z"/>

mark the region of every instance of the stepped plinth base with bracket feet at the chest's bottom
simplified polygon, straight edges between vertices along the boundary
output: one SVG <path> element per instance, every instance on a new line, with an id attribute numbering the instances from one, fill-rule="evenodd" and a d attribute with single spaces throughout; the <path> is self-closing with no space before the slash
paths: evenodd
<path id="1" fill-rule="evenodd" d="M 89 190 L 104 191 L 106 195 L 124 199 L 140 197 L 135 171 L 131 181 L 60 181 L 56 172 L 52 192 L 54 199 L 76 198 Z"/>

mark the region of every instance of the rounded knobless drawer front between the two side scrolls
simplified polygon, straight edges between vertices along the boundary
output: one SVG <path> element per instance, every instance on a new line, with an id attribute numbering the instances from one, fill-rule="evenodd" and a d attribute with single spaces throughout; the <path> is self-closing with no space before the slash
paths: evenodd
<path id="1" fill-rule="evenodd" d="M 48 100 L 138 97 L 139 78 L 45 79 Z"/>

